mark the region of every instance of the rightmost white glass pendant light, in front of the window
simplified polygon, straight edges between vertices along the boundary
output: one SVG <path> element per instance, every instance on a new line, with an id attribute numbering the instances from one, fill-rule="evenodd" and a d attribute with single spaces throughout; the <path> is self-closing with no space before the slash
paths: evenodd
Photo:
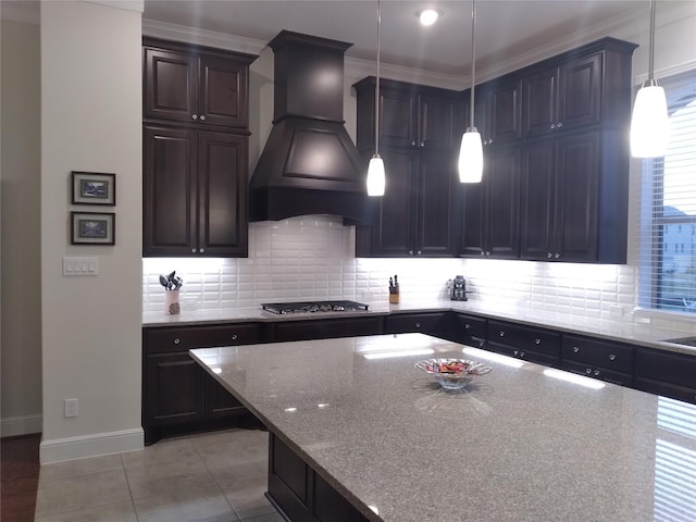
<path id="1" fill-rule="evenodd" d="M 656 0 L 650 0 L 648 79 L 643 83 L 635 97 L 631 116 L 631 156 L 634 158 L 664 156 L 669 137 L 667 97 L 664 89 L 654 77 L 655 5 Z"/>

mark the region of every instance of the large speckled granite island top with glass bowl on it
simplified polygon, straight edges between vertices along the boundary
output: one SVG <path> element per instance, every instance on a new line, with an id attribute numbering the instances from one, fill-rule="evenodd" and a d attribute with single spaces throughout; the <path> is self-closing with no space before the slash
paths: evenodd
<path id="1" fill-rule="evenodd" d="M 493 371 L 463 393 L 413 366 L 462 348 L 400 334 L 191 355 L 370 520 L 696 519 L 696 406 L 472 348 Z"/>

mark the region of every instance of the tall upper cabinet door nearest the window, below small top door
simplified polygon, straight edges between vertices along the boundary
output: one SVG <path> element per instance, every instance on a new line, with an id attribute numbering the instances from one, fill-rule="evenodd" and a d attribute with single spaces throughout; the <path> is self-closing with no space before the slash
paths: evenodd
<path id="1" fill-rule="evenodd" d="M 560 261 L 597 260 L 599 153 L 596 133 L 558 140 L 554 258 Z"/>

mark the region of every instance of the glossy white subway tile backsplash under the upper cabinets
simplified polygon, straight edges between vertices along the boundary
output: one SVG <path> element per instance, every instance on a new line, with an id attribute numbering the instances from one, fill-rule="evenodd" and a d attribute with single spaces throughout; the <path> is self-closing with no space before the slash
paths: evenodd
<path id="1" fill-rule="evenodd" d="M 522 306 L 582 318 L 633 321 L 637 268 L 478 259 L 357 259 L 355 227 L 339 217 L 302 216 L 249 225 L 244 259 L 146 258 L 142 308 L 164 307 L 159 274 L 184 279 L 182 307 L 220 309 L 261 302 L 355 299 L 388 300 L 398 274 L 402 299 L 446 298 L 447 279 L 462 274 L 470 299 Z M 694 321 L 652 320 L 694 332 Z"/>

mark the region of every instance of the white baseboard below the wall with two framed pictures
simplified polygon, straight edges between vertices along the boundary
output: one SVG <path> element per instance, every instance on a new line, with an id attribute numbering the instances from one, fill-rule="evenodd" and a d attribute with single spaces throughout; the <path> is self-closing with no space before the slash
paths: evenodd
<path id="1" fill-rule="evenodd" d="M 41 464 L 64 460 L 85 459 L 102 455 L 142 449 L 145 434 L 141 427 L 121 432 L 97 433 L 79 437 L 42 440 L 39 446 Z"/>

